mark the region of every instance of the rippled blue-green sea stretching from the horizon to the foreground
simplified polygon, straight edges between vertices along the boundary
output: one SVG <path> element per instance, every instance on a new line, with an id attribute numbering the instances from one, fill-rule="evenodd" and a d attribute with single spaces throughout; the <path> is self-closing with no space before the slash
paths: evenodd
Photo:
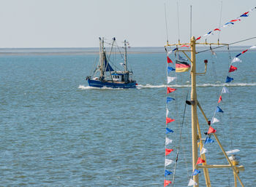
<path id="1" fill-rule="evenodd" d="M 255 49 L 240 55 L 242 62 L 232 63 L 237 71 L 228 72 L 233 57 L 248 48 L 214 49 L 216 55 L 197 49 L 197 72 L 205 71 L 208 60 L 206 74 L 197 76 L 197 100 L 208 121 L 219 120 L 212 127 L 224 150 L 240 150 L 244 186 L 255 186 Z M 168 73 L 177 79 L 167 84 L 164 47 L 128 52 L 136 89 L 89 87 L 86 76 L 99 60 L 97 48 L 0 49 L 0 186 L 163 186 L 164 180 L 188 185 L 189 72 Z M 169 57 L 175 63 L 174 52 Z M 233 81 L 225 83 L 227 76 Z M 176 91 L 167 95 L 167 87 Z M 175 100 L 166 103 L 167 97 Z M 217 106 L 224 112 L 215 113 Z M 165 123 L 167 109 L 175 122 Z M 197 113 L 204 143 L 208 124 L 199 108 Z M 166 127 L 173 133 L 166 135 Z M 165 146 L 166 138 L 173 142 Z M 204 145 L 207 164 L 228 164 L 210 138 L 214 142 Z M 173 151 L 165 156 L 165 148 Z M 173 164 L 165 167 L 165 159 Z M 165 177 L 165 170 L 173 174 Z M 198 170 L 199 184 L 206 186 Z M 208 172 L 211 186 L 234 186 L 230 168 Z"/>

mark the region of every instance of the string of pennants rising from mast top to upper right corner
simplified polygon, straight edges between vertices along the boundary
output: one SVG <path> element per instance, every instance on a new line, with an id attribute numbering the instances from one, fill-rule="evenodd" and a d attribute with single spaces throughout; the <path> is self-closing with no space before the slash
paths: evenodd
<path id="1" fill-rule="evenodd" d="M 220 28 L 215 28 L 214 30 L 209 31 L 208 33 L 204 34 L 203 36 L 197 37 L 196 40 L 200 40 L 202 37 L 207 37 L 207 36 L 210 36 L 210 35 L 214 35 L 215 32 L 220 32 L 220 31 L 222 31 L 222 28 L 226 28 L 227 26 L 235 25 L 235 23 L 241 22 L 241 18 L 242 18 L 242 17 L 249 17 L 249 14 L 250 14 L 254 9 L 256 9 L 256 7 L 252 8 L 252 9 L 249 9 L 248 12 L 244 12 L 244 14 L 240 15 L 239 17 L 236 17 L 236 19 L 230 20 L 229 22 L 227 22 L 227 23 L 225 23 L 224 25 L 222 25 Z"/>

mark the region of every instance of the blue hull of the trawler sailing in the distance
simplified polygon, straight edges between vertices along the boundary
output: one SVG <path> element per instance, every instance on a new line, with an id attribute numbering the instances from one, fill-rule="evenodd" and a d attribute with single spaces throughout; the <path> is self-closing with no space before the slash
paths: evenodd
<path id="1" fill-rule="evenodd" d="M 136 81 L 132 81 L 129 83 L 116 83 L 111 81 L 98 81 L 88 79 L 88 84 L 90 87 L 112 87 L 112 88 L 135 88 Z"/>

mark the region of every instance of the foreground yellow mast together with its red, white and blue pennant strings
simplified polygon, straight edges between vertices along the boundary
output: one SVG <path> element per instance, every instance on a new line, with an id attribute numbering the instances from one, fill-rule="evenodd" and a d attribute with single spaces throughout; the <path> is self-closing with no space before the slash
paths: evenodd
<path id="1" fill-rule="evenodd" d="M 256 7 L 255 7 L 256 8 Z M 255 9 L 254 8 L 254 9 Z M 252 11 L 251 9 L 250 11 Z M 240 17 L 246 17 L 248 15 L 248 12 L 245 12 Z M 236 19 L 238 20 L 238 19 Z M 236 20 L 231 20 L 228 24 L 235 22 Z M 227 23 L 225 24 L 227 25 Z M 220 31 L 219 28 L 214 29 L 213 31 Z M 212 32 L 212 31 L 211 31 Z M 206 33 L 205 36 L 208 36 L 211 34 L 211 32 Z M 255 38 L 255 37 L 254 37 Z M 230 76 L 230 73 L 233 71 L 236 71 L 237 68 L 233 65 L 233 63 L 238 62 L 240 59 L 238 59 L 238 56 L 243 55 L 245 52 L 247 52 L 249 49 L 255 49 L 256 46 L 249 47 L 248 49 L 244 49 L 242 52 L 238 53 L 235 57 L 230 57 L 228 60 L 229 62 L 229 68 L 227 70 L 227 77 L 223 79 L 223 88 L 221 89 L 221 92 L 219 92 L 219 100 L 217 100 L 217 106 L 213 110 L 213 116 L 207 116 L 205 111 L 203 111 L 203 107 L 200 105 L 199 99 L 197 99 L 197 76 L 203 76 L 206 75 L 207 71 L 207 65 L 208 60 L 204 60 L 204 66 L 205 70 L 204 72 L 197 72 L 196 64 L 197 64 L 197 54 L 200 52 L 211 52 L 211 55 L 214 55 L 214 49 L 217 49 L 219 47 L 227 47 L 229 49 L 230 44 L 222 44 L 219 42 L 219 39 L 216 43 L 208 42 L 207 39 L 204 42 L 199 42 L 201 39 L 201 36 L 195 37 L 192 36 L 190 41 L 187 43 L 181 43 L 178 39 L 178 42 L 175 44 L 169 44 L 167 41 L 167 44 L 165 44 L 165 51 L 167 52 L 167 94 L 166 94 L 166 133 L 165 133 L 165 180 L 164 180 L 164 186 L 181 186 L 179 183 L 175 183 L 176 178 L 176 172 L 177 172 L 177 165 L 178 165 L 178 158 L 180 153 L 180 146 L 172 145 L 173 143 L 173 134 L 176 133 L 174 130 L 172 130 L 174 127 L 172 124 L 176 124 L 176 119 L 170 118 L 172 114 L 169 113 L 169 108 L 172 105 L 173 102 L 176 102 L 178 97 L 175 93 L 177 92 L 175 85 L 171 86 L 170 82 L 177 80 L 177 75 L 172 76 L 172 72 L 180 73 L 180 72 L 189 72 L 187 73 L 187 76 L 189 77 L 189 89 L 190 89 L 190 99 L 187 98 L 187 100 L 184 100 L 184 105 L 186 110 L 186 106 L 191 107 L 191 148 L 192 151 L 189 156 L 191 156 L 192 162 L 191 163 L 191 175 L 189 175 L 189 178 L 187 178 L 188 186 L 194 186 L 198 187 L 200 183 L 199 176 L 201 172 L 203 172 L 203 176 L 205 179 L 205 185 L 203 186 L 213 186 L 211 184 L 210 175 L 211 169 L 227 169 L 231 170 L 233 172 L 233 185 L 232 186 L 243 186 L 244 183 L 242 182 L 241 178 L 239 177 L 239 172 L 244 171 L 244 166 L 239 165 L 239 156 L 238 151 L 239 149 L 233 149 L 231 151 L 226 151 L 225 146 L 221 143 L 221 138 L 219 138 L 219 135 L 221 132 L 218 132 L 218 126 L 217 123 L 219 122 L 219 119 L 217 119 L 218 115 L 223 113 L 222 106 L 220 106 L 220 103 L 222 103 L 222 97 L 224 97 L 225 94 L 227 94 L 229 91 L 227 89 L 228 84 L 230 84 L 230 81 L 233 81 L 233 78 Z M 204 47 L 208 46 L 208 49 L 201 49 L 201 51 L 198 51 L 198 47 L 203 45 Z M 190 53 L 190 56 L 189 56 Z M 173 54 L 172 57 L 170 55 Z M 185 57 L 181 57 L 181 54 Z M 215 54 L 216 55 L 216 54 Z M 176 60 L 171 60 L 172 58 L 175 58 Z M 185 59 L 186 58 L 186 59 Z M 190 64 L 189 64 L 190 63 Z M 189 92 L 188 92 L 189 93 Z M 180 93 L 178 93 L 180 95 Z M 207 97 L 207 96 L 206 96 Z M 179 98 L 180 100 L 180 98 Z M 186 104 L 185 104 L 186 103 Z M 175 107 L 175 106 L 173 106 Z M 173 110 L 174 111 L 174 110 Z M 203 116 L 203 119 L 200 119 L 198 114 L 198 111 Z M 173 114 L 174 115 L 174 114 Z M 172 116 L 173 116 L 172 115 Z M 182 115 L 181 115 L 182 116 Z M 183 117 L 185 116 L 185 113 Z M 178 116 L 177 116 L 178 117 Z M 219 117 L 218 117 L 219 118 Z M 199 120 L 200 119 L 200 120 Z M 182 125 L 184 123 L 184 119 L 181 120 Z M 202 122 L 204 121 L 204 122 Z M 172 124 L 170 124 L 172 123 Z M 181 141 L 181 133 L 182 133 L 182 126 L 180 132 L 179 138 L 178 135 L 176 136 Z M 207 130 L 206 132 L 203 132 L 203 130 Z M 223 162 L 226 164 L 220 164 L 220 159 L 218 163 L 211 163 L 211 159 L 208 159 L 208 151 L 207 146 L 208 144 L 215 143 L 217 147 L 219 147 L 219 151 L 221 151 L 221 159 L 224 159 Z M 179 144 L 180 145 L 180 144 Z M 215 152 L 217 152 L 217 149 L 214 149 Z M 211 157 L 211 156 L 209 156 Z M 211 164 L 208 164 L 211 163 Z M 173 166 L 173 167 L 172 167 Z M 216 171 L 216 170 L 215 170 Z M 216 172 L 214 172 L 216 175 Z M 180 177 L 180 176 L 179 176 Z M 180 177 L 181 178 L 181 177 Z M 222 178 L 222 175 L 219 175 L 219 179 Z M 226 186 L 230 186 L 228 183 Z"/>

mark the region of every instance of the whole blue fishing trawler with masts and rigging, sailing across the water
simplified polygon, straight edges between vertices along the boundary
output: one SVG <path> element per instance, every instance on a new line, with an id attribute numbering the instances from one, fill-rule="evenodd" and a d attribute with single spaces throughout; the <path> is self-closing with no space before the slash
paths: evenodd
<path id="1" fill-rule="evenodd" d="M 124 62 L 119 63 L 122 69 L 113 68 L 110 64 L 110 55 L 113 53 L 113 47 L 117 46 L 116 38 L 113 38 L 110 52 L 107 54 L 104 47 L 104 38 L 99 38 L 99 64 L 93 72 L 93 76 L 87 76 L 86 80 L 90 87 L 110 87 L 110 88 L 135 88 L 136 81 L 132 79 L 132 71 L 127 68 L 127 44 L 124 40 L 124 54 L 121 54 Z M 114 62 L 113 62 L 114 63 Z"/>

